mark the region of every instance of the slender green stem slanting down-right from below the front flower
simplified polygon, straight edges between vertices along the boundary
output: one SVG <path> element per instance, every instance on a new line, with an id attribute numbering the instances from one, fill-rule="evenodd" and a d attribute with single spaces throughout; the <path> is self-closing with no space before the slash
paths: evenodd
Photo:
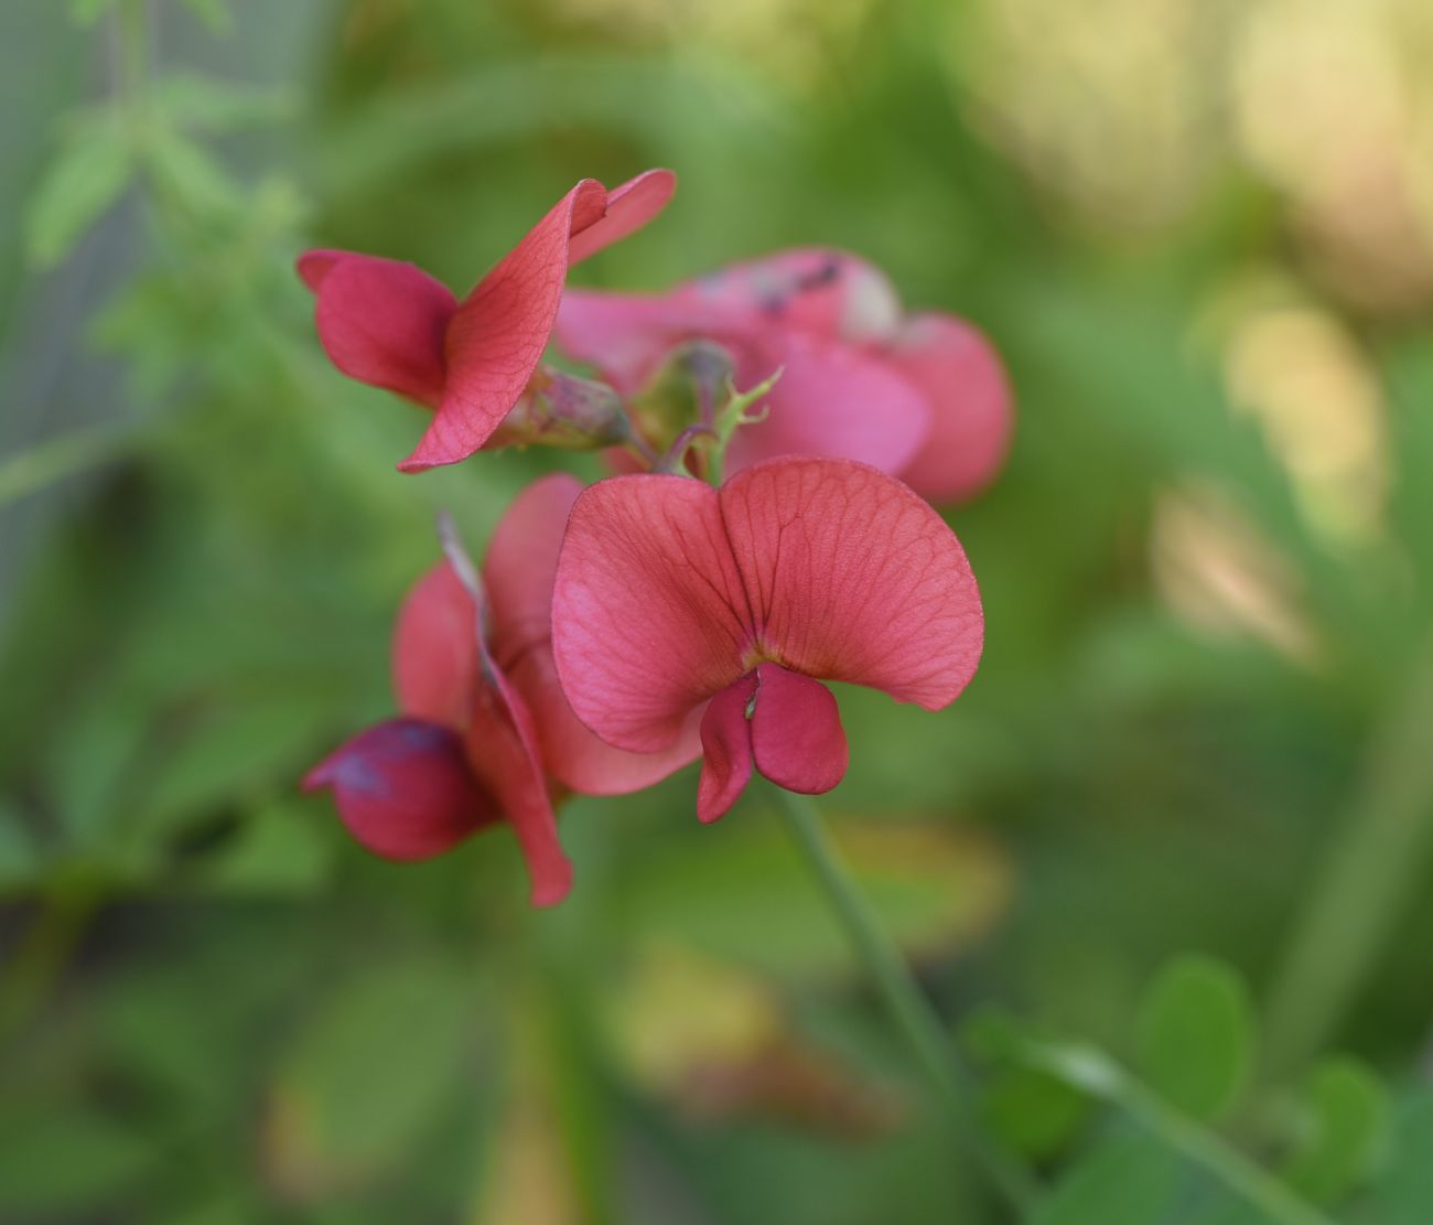
<path id="1" fill-rule="evenodd" d="M 946 1024 L 916 984 L 910 969 L 881 931 L 870 904 L 856 887 L 851 871 L 807 795 L 777 789 L 778 810 L 825 893 L 851 950 L 871 976 L 896 1027 L 929 1076 L 930 1087 L 962 1142 L 984 1166 L 995 1186 L 1022 1214 L 1033 1206 L 1037 1189 L 1029 1173 L 990 1146 L 972 1123 L 970 1076 L 960 1063 Z"/>

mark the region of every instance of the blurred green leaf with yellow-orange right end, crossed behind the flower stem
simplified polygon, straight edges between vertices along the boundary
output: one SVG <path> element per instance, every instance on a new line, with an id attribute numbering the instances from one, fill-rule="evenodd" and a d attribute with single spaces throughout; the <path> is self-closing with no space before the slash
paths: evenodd
<path id="1" fill-rule="evenodd" d="M 967 946 L 1005 910 L 1009 865 L 987 837 L 851 820 L 831 821 L 831 832 L 883 927 L 913 956 Z M 804 861 L 770 814 L 751 805 L 692 837 L 699 851 L 676 847 L 620 887 L 633 931 L 787 976 L 851 966 Z"/>

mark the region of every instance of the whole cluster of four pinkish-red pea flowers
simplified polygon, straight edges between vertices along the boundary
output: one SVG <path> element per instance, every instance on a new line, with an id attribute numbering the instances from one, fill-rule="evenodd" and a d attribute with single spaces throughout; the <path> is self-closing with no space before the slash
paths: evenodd
<path id="1" fill-rule="evenodd" d="M 569 792 L 638 791 L 698 756 L 702 821 L 754 769 L 824 792 L 847 742 L 823 682 L 936 711 L 980 658 L 976 582 L 930 501 L 972 496 L 1003 461 L 1010 394 L 989 342 L 904 314 L 838 251 L 665 294 L 566 288 L 674 186 L 668 170 L 583 179 L 461 301 L 411 264 L 298 262 L 334 365 L 433 411 L 401 470 L 542 444 L 602 448 L 618 473 L 532 484 L 481 567 L 444 522 L 443 560 L 398 615 L 398 716 L 305 779 L 393 860 L 506 821 L 536 904 L 572 884 L 555 815 Z M 550 341 L 600 378 L 545 365 Z"/>

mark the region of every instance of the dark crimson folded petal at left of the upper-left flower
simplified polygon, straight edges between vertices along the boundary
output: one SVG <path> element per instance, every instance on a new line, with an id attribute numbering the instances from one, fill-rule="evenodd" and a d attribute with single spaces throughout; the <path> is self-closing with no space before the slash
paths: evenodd
<path id="1" fill-rule="evenodd" d="M 350 378 L 436 408 L 443 397 L 443 337 L 457 308 L 421 268 L 351 251 L 310 251 L 298 274 L 314 291 L 314 324 L 330 360 Z"/>

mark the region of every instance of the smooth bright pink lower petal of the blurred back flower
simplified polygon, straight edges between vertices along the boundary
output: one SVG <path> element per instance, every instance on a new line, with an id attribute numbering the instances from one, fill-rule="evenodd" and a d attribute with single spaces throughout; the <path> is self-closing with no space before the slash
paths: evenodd
<path id="1" fill-rule="evenodd" d="M 732 351 L 738 387 L 782 374 L 764 401 L 767 420 L 737 430 L 728 473 L 777 456 L 830 456 L 900 471 L 926 440 L 926 397 L 874 354 L 800 332 Z"/>

